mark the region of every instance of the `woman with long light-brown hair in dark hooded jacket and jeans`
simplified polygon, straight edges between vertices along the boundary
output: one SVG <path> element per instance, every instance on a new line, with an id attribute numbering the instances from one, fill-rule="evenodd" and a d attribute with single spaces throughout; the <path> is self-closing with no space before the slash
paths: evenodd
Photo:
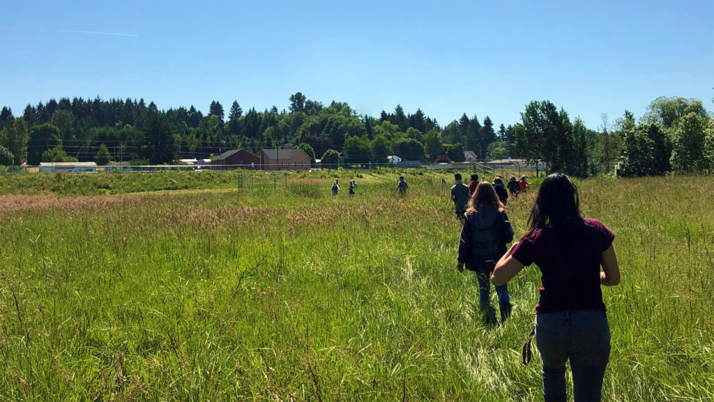
<path id="1" fill-rule="evenodd" d="M 513 228 L 506 215 L 506 207 L 498 200 L 496 190 L 488 182 L 482 182 L 471 195 L 466 210 L 466 219 L 461 228 L 461 239 L 458 242 L 458 265 L 463 272 L 466 269 L 475 271 L 478 276 L 479 305 L 488 318 L 491 318 L 491 301 L 489 293 L 491 284 L 488 277 L 496 266 L 496 261 L 506 253 L 506 245 L 513 241 Z M 511 315 L 511 298 L 508 296 L 508 285 L 496 286 L 498 305 L 501 310 L 501 320 Z"/>

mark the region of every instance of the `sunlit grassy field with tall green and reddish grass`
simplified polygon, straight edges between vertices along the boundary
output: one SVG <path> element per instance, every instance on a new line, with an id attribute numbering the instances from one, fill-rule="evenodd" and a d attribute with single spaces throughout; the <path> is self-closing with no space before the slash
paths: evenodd
<path id="1" fill-rule="evenodd" d="M 520 358 L 538 269 L 513 281 L 511 320 L 483 325 L 448 176 L 409 175 L 400 201 L 389 174 L 333 198 L 335 175 L 346 189 L 335 172 L 0 197 L 0 401 L 540 401 L 540 359 Z M 714 400 L 713 193 L 710 177 L 580 183 L 623 272 L 603 290 L 605 401 Z M 517 231 L 532 201 L 509 202 Z"/>

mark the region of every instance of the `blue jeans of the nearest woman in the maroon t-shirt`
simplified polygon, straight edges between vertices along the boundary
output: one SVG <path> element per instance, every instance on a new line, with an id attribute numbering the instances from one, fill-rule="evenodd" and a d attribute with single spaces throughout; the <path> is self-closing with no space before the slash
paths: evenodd
<path id="1" fill-rule="evenodd" d="M 603 311 L 539 314 L 535 343 L 543 359 L 545 401 L 565 402 L 565 362 L 573 371 L 575 402 L 600 401 L 610 359 L 610 326 Z"/>

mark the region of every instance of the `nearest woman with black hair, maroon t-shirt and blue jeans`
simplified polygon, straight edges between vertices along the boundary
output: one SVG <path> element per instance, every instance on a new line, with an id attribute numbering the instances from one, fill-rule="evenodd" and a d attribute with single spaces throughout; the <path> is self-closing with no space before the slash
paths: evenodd
<path id="1" fill-rule="evenodd" d="M 600 401 L 610 357 L 600 285 L 620 283 L 614 239 L 598 220 L 583 219 L 577 187 L 568 176 L 555 173 L 540 185 L 528 230 L 493 271 L 493 285 L 505 285 L 524 266 L 540 268 L 535 342 L 543 358 L 545 401 L 566 400 L 568 360 L 575 402 Z"/>

